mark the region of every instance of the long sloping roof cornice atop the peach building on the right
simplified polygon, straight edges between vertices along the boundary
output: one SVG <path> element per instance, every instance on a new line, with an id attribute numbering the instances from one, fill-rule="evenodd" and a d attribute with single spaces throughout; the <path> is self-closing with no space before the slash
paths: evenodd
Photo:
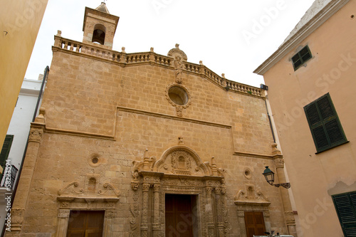
<path id="1" fill-rule="evenodd" d="M 293 50 L 298 44 L 305 40 L 311 33 L 313 33 L 317 28 L 319 28 L 325 21 L 330 19 L 333 14 L 339 11 L 342 6 L 347 4 L 350 0 L 337 0 L 330 1 L 330 4 L 325 6 L 321 11 L 318 12 L 308 23 L 300 28 L 290 39 L 284 42 L 276 52 L 274 52 L 267 60 L 265 60 L 261 65 L 253 71 L 258 75 L 265 74 L 270 68 L 278 63 L 283 57 L 285 57 L 290 51 Z"/>

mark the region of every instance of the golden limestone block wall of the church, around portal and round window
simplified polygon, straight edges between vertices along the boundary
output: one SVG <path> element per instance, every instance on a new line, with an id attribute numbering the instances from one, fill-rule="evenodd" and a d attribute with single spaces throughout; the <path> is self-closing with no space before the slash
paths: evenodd
<path id="1" fill-rule="evenodd" d="M 21 234 L 58 236 L 66 231 L 66 226 L 59 230 L 58 220 L 66 219 L 68 207 L 103 209 L 104 204 L 93 200 L 63 198 L 67 194 L 88 196 L 90 177 L 97 180 L 95 195 L 105 192 L 105 184 L 120 193 L 120 201 L 106 207 L 114 210 L 109 216 L 110 233 L 127 237 L 137 233 L 140 225 L 136 220 L 140 221 L 140 200 L 146 187 L 140 184 L 137 191 L 132 190 L 134 165 L 144 157 L 159 160 L 167 149 L 179 144 L 194 150 L 202 163 L 212 165 L 211 157 L 215 157 L 226 186 L 226 194 L 218 193 L 221 188 L 215 192 L 219 199 L 220 195 L 226 197 L 227 236 L 243 237 L 245 233 L 241 223 L 244 212 L 235 204 L 236 199 L 244 199 L 238 195 L 241 190 L 249 190 L 246 199 L 271 202 L 267 209 L 240 206 L 242 210 L 264 211 L 267 228 L 287 233 L 280 190 L 269 186 L 261 174 L 265 166 L 275 167 L 263 97 L 226 91 L 183 70 L 182 85 L 192 102 L 179 116 L 166 95 L 167 86 L 174 82 L 175 71 L 169 66 L 146 63 L 122 67 L 93 56 L 54 50 L 42 102 L 46 130 Z M 93 157 L 98 158 L 97 164 Z M 78 184 L 70 185 L 73 182 Z"/>

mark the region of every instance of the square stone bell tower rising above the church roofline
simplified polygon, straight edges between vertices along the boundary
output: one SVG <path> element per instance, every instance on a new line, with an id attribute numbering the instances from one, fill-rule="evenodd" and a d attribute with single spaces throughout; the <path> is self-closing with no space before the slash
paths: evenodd
<path id="1" fill-rule="evenodd" d="M 118 21 L 119 17 L 111 15 L 104 2 L 96 9 L 85 7 L 83 43 L 112 49 Z"/>

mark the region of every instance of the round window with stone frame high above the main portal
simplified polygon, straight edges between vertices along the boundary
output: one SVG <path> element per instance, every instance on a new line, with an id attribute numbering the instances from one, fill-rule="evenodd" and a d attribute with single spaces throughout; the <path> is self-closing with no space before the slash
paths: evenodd
<path id="1" fill-rule="evenodd" d="M 172 90 L 173 90 L 173 92 L 172 92 Z M 179 105 L 179 103 L 174 102 L 172 100 L 171 96 L 169 96 L 169 94 L 172 95 L 172 93 L 177 95 L 182 100 L 182 105 Z M 166 98 L 169 101 L 169 103 L 171 105 L 173 105 L 174 107 L 182 107 L 185 109 L 185 108 L 189 107 L 189 105 L 192 104 L 192 95 L 189 93 L 189 90 L 184 85 L 177 84 L 177 83 L 173 83 L 173 84 L 167 86 Z"/>

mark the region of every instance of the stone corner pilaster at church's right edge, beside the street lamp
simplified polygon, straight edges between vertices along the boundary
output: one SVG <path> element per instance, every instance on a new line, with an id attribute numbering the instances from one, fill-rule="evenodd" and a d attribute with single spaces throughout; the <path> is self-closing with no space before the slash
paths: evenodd
<path id="1" fill-rule="evenodd" d="M 282 157 L 276 158 L 274 160 L 277 169 L 278 180 L 280 183 L 286 183 L 286 175 L 284 174 L 284 160 Z M 295 227 L 295 219 L 293 215 L 292 205 L 290 204 L 288 189 L 280 188 L 283 207 L 284 207 L 284 218 L 286 218 L 288 233 L 292 236 L 297 237 L 297 230 Z"/>

